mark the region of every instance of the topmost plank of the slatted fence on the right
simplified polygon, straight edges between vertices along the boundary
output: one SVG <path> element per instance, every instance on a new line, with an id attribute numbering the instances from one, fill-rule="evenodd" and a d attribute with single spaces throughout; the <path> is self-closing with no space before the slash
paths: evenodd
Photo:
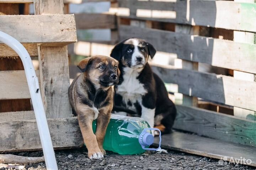
<path id="1" fill-rule="evenodd" d="M 118 15 L 122 17 L 256 32 L 254 3 L 222 0 L 177 0 L 176 2 L 118 0 L 118 2 L 120 7 Z M 130 11 L 128 14 L 122 11 L 126 8 Z"/>

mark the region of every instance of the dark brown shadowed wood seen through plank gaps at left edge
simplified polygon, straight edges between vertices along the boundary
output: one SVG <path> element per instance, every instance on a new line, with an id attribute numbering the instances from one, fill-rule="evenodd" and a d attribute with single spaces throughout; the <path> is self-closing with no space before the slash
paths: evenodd
<path id="1" fill-rule="evenodd" d="M 18 4 L 0 3 L 0 15 L 19 15 Z M 0 58 L 0 71 L 24 70 L 20 57 Z M 1 100 L 0 113 L 31 110 L 30 99 Z"/>

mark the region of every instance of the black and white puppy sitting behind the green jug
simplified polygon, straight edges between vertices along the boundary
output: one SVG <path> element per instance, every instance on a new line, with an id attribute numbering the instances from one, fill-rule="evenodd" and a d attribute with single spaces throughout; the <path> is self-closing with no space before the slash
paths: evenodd
<path id="1" fill-rule="evenodd" d="M 164 82 L 148 64 L 149 56 L 153 58 L 155 53 L 153 45 L 138 38 L 123 40 L 113 48 L 111 57 L 119 61 L 121 71 L 119 83 L 114 86 L 113 110 L 130 109 L 151 127 L 170 133 L 176 108 L 168 97 Z"/>

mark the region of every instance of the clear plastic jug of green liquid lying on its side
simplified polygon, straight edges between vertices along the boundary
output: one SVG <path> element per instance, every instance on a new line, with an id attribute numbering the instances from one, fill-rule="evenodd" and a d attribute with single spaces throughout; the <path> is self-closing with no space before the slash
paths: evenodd
<path id="1" fill-rule="evenodd" d="M 92 123 L 92 128 L 95 133 L 96 120 Z M 145 152 L 145 150 L 156 150 L 148 148 L 154 141 L 151 130 L 158 129 L 150 128 L 148 122 L 140 117 L 112 114 L 107 127 L 103 148 L 121 155 L 140 154 Z M 159 148 L 160 145 L 161 142 Z"/>

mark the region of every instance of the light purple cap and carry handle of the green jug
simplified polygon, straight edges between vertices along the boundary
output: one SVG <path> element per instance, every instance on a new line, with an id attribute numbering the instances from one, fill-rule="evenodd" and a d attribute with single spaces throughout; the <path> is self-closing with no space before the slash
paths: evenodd
<path id="1" fill-rule="evenodd" d="M 151 144 L 153 144 L 154 142 L 154 136 L 149 133 L 149 132 L 146 132 L 147 130 L 157 130 L 159 131 L 159 147 L 158 148 L 145 148 L 146 146 L 150 146 Z M 144 128 L 142 133 L 140 133 L 139 135 L 139 143 L 140 145 L 142 146 L 142 149 L 145 149 L 145 150 L 157 150 L 160 148 L 161 146 L 161 131 L 158 129 L 158 128 Z"/>

